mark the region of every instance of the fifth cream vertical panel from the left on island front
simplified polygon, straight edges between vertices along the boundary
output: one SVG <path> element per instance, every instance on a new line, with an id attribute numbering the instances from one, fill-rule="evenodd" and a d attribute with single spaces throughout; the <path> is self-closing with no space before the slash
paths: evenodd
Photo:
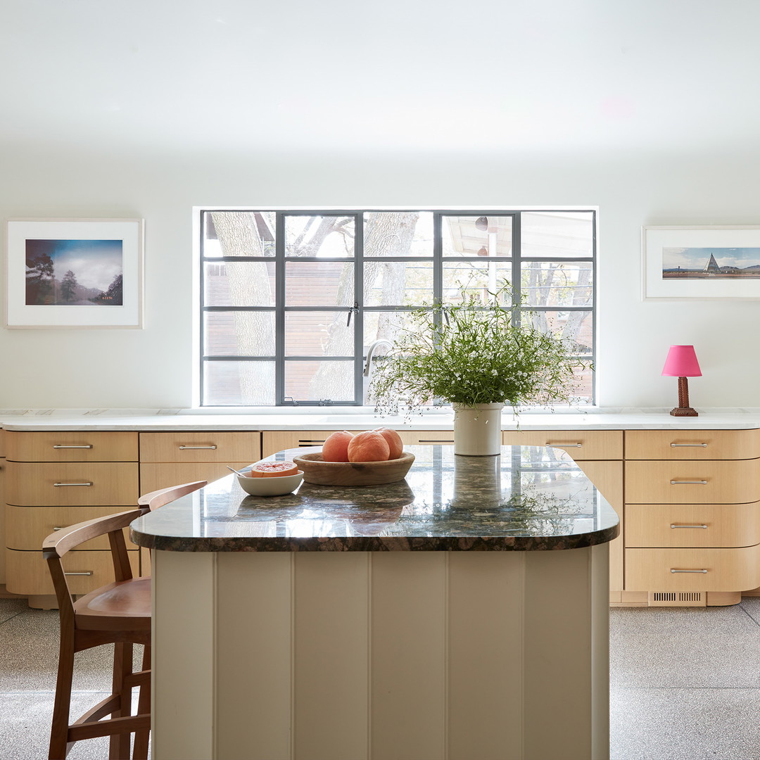
<path id="1" fill-rule="evenodd" d="M 524 556 L 449 556 L 448 760 L 522 757 Z"/>

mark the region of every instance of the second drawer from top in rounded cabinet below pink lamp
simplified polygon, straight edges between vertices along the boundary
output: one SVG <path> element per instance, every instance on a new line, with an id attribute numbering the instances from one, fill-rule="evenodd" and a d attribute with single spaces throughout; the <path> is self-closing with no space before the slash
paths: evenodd
<path id="1" fill-rule="evenodd" d="M 760 460 L 625 462 L 625 502 L 741 504 L 760 501 Z"/>

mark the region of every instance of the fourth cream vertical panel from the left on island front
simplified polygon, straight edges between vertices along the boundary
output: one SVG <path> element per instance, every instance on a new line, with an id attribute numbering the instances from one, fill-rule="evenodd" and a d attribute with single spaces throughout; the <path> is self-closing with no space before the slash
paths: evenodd
<path id="1" fill-rule="evenodd" d="M 445 552 L 372 554 L 371 760 L 444 760 Z"/>

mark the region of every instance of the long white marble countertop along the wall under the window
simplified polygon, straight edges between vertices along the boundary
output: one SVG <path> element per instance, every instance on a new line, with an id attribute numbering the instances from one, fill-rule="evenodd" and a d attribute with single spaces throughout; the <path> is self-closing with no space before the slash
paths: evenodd
<path id="1" fill-rule="evenodd" d="M 663 409 L 533 410 L 514 416 L 502 413 L 504 430 L 647 430 L 760 428 L 760 409 L 701 410 L 696 417 L 674 417 Z M 397 430 L 451 430 L 451 410 L 431 410 L 404 416 L 380 416 L 356 407 L 311 407 L 309 410 L 266 409 L 94 409 L 0 410 L 6 430 L 334 430 L 391 427 Z"/>

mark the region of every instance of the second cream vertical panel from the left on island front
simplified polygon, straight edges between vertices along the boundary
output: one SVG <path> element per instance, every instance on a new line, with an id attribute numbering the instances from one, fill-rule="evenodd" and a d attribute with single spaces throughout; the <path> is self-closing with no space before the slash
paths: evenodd
<path id="1" fill-rule="evenodd" d="M 293 756 L 292 562 L 290 553 L 218 554 L 220 760 L 290 760 Z"/>

